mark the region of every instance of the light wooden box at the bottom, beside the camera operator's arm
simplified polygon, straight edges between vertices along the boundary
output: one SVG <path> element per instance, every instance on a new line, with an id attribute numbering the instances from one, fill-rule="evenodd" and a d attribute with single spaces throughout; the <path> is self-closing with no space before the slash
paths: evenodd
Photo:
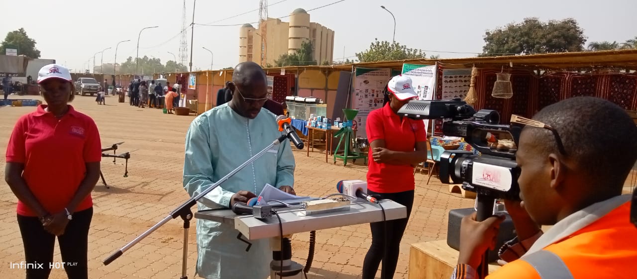
<path id="1" fill-rule="evenodd" d="M 413 243 L 409 251 L 409 279 L 451 278 L 458 263 L 459 252 L 447 245 L 446 240 Z M 489 264 L 489 273 L 500 266 Z"/>

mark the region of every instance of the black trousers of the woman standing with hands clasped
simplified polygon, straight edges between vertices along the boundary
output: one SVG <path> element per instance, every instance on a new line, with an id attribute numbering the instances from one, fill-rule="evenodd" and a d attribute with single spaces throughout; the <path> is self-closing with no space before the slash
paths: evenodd
<path id="1" fill-rule="evenodd" d="M 38 217 L 18 215 L 24 245 L 27 279 L 47 279 L 52 268 L 64 268 L 69 279 L 88 279 L 89 227 L 93 208 L 73 213 L 64 234 L 57 237 L 62 262 L 53 262 L 55 235 L 45 231 Z"/>

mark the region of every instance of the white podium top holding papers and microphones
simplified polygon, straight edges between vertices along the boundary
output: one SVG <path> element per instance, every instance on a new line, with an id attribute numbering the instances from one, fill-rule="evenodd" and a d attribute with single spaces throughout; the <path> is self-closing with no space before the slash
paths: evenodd
<path id="1" fill-rule="evenodd" d="M 380 201 L 385 209 L 385 220 L 407 217 L 407 208 L 389 199 Z M 344 227 L 346 225 L 367 224 L 383 220 L 383 213 L 378 204 L 371 204 L 362 199 L 352 202 L 350 210 L 336 211 L 317 215 L 304 215 L 300 208 L 278 208 L 278 215 L 283 223 L 283 235 Z M 278 218 L 261 220 L 252 215 L 235 215 L 231 210 L 203 211 L 194 214 L 195 218 L 213 220 L 233 225 L 248 240 L 273 238 L 280 236 Z"/>

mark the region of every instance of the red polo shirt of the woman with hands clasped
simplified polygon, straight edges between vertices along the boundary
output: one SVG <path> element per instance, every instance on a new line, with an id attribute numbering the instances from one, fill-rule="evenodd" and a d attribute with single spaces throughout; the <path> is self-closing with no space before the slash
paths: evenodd
<path id="1" fill-rule="evenodd" d="M 48 213 L 63 211 L 71 202 L 86 173 L 85 163 L 102 158 L 97 125 L 89 116 L 69 105 L 69 111 L 57 119 L 41 104 L 32 113 L 20 117 L 6 149 L 7 162 L 24 164 L 22 177 Z M 93 205 L 85 197 L 74 211 Z M 72 210 L 69 208 L 69 210 Z M 18 214 L 37 216 L 18 200 Z"/>

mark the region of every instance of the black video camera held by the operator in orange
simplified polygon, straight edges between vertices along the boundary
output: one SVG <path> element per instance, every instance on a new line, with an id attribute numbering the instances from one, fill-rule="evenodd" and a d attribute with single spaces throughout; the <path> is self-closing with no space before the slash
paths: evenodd
<path id="1" fill-rule="evenodd" d="M 440 156 L 440 181 L 462 183 L 462 189 L 492 199 L 519 200 L 517 178 L 520 168 L 515 162 L 522 127 L 500 125 L 494 110 L 475 109 L 461 99 L 420 101 L 405 104 L 398 115 L 418 119 L 443 120 L 445 136 L 461 137 L 482 155 L 464 150 L 447 150 Z M 497 140 L 512 140 L 506 147 Z"/>

